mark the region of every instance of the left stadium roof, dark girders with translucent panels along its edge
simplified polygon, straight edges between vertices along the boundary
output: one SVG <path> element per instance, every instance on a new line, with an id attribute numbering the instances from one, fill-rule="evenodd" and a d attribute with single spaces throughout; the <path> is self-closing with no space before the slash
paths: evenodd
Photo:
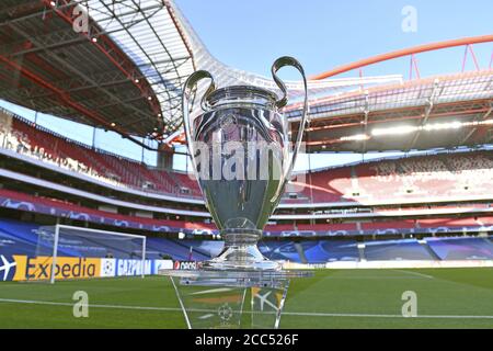
<path id="1" fill-rule="evenodd" d="M 179 117 L 192 53 L 159 0 L 2 0 L 0 98 L 146 136 Z M 82 12 L 89 23 L 81 25 Z M 163 123 L 164 122 L 164 123 Z"/>

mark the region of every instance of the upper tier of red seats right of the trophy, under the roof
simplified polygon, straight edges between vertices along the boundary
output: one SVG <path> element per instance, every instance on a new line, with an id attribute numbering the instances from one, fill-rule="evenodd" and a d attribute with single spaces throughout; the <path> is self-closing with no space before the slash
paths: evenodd
<path id="1" fill-rule="evenodd" d="M 416 196 L 474 196 L 490 194 L 493 160 L 490 151 L 413 156 L 369 161 L 310 173 L 298 202 L 389 201 Z M 290 199 L 289 202 L 296 202 Z"/>

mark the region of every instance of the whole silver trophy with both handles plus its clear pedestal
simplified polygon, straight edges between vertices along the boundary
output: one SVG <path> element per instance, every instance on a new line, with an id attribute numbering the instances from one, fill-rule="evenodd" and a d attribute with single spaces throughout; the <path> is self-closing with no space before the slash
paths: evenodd
<path id="1" fill-rule="evenodd" d="M 305 84 L 303 114 L 290 151 L 288 123 L 279 113 L 287 103 L 277 70 L 295 67 Z M 287 183 L 303 135 L 308 112 L 307 79 L 301 65 L 280 57 L 272 66 L 280 99 L 251 86 L 216 89 L 207 71 L 192 73 L 182 98 L 192 163 L 206 206 L 225 240 L 222 252 L 197 270 L 161 270 L 171 278 L 188 328 L 278 328 L 293 278 L 267 260 L 256 244 Z M 188 99 L 198 81 L 210 84 L 200 113 L 190 113 Z M 245 304 L 250 301 L 250 304 Z"/>

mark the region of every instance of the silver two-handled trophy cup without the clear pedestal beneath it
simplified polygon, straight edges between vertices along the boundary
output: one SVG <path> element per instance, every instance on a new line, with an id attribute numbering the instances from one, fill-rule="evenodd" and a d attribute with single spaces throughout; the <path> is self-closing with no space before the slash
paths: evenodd
<path id="1" fill-rule="evenodd" d="M 279 112 L 287 92 L 276 75 L 284 66 L 298 69 L 305 83 L 305 111 L 291 157 L 288 123 Z M 280 99 L 251 86 L 216 89 L 207 71 L 196 71 L 185 82 L 182 109 L 188 150 L 207 208 L 225 240 L 222 252 L 203 269 L 280 270 L 256 245 L 291 173 L 307 120 L 308 92 L 303 69 L 293 57 L 278 58 L 272 75 Z M 202 99 L 203 113 L 192 117 L 190 92 L 205 78 L 210 86 Z"/>

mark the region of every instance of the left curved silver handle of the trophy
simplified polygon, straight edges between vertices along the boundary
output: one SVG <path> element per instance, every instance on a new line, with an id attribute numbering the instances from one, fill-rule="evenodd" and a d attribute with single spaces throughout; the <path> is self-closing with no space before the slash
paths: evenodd
<path id="1" fill-rule="evenodd" d="M 190 121 L 190 95 L 193 90 L 193 88 L 202 79 L 209 78 L 210 84 L 207 88 L 207 91 L 205 92 L 204 97 L 200 100 L 200 107 L 204 111 L 209 110 L 209 104 L 207 103 L 207 97 L 216 90 L 216 84 L 214 82 L 213 76 L 206 71 L 206 70 L 197 70 L 190 75 L 190 77 L 186 79 L 185 84 L 183 86 L 183 94 L 182 94 L 182 113 L 183 113 L 183 124 L 185 128 L 185 137 L 186 137 L 186 145 L 188 148 L 188 152 L 192 158 L 192 165 L 194 167 L 194 171 L 196 171 L 196 165 L 195 165 L 195 148 L 193 145 L 194 141 L 194 134 L 191 126 Z"/>

